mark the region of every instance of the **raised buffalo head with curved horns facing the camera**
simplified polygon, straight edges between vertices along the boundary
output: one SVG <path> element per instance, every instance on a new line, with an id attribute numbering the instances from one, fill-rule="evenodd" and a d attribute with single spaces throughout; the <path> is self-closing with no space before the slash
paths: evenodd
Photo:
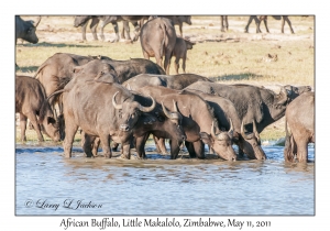
<path id="1" fill-rule="evenodd" d="M 152 98 L 151 96 L 150 98 L 152 99 L 153 102 L 150 107 L 143 107 L 142 105 L 140 105 L 140 102 L 129 101 L 127 99 L 124 99 L 123 102 L 119 105 L 116 102 L 116 96 L 118 94 L 119 91 L 117 91 L 113 95 L 112 105 L 117 110 L 120 110 L 119 112 L 119 118 L 121 121 L 120 130 L 123 132 L 129 132 L 132 130 L 134 124 L 138 122 L 141 112 L 150 112 L 154 110 L 154 108 L 156 107 L 156 102 L 154 98 Z"/>

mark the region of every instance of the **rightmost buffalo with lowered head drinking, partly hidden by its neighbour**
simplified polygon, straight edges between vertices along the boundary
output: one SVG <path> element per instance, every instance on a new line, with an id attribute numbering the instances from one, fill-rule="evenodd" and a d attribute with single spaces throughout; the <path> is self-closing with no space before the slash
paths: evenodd
<path id="1" fill-rule="evenodd" d="M 204 94 L 199 90 L 189 90 L 199 95 L 212 108 L 213 113 L 218 120 L 219 129 L 229 131 L 233 127 L 232 141 L 245 153 L 249 158 L 265 160 L 266 155 L 261 147 L 260 134 L 256 131 L 255 124 L 252 133 L 245 134 L 244 123 L 241 122 L 234 105 L 219 96 Z M 231 125 L 231 122 L 232 125 Z"/>

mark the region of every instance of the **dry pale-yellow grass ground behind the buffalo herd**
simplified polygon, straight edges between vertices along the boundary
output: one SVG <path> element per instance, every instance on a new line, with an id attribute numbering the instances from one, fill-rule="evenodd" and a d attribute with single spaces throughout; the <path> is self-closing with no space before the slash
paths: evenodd
<path id="1" fill-rule="evenodd" d="M 16 74 L 33 76 L 37 67 L 55 53 L 105 55 L 113 59 L 143 57 L 140 42 L 109 42 L 114 37 L 111 24 L 105 29 L 106 42 L 91 41 L 87 29 L 88 41 L 82 43 L 80 29 L 74 28 L 73 21 L 73 16 L 43 16 L 37 31 L 40 43 L 16 45 L 16 64 L 20 66 Z M 268 19 L 270 34 L 255 34 L 254 22 L 250 25 L 250 33 L 243 33 L 248 16 L 229 16 L 226 33 L 220 32 L 219 16 L 194 15 L 191 21 L 190 26 L 184 24 L 184 36 L 196 42 L 188 51 L 188 73 L 224 84 L 315 86 L 312 16 L 290 16 L 295 34 L 289 33 L 287 25 L 285 34 L 280 34 L 280 21 L 273 18 Z M 119 26 L 121 30 L 122 24 Z M 263 24 L 261 30 L 265 31 Z M 170 74 L 174 74 L 173 66 Z M 270 125 L 261 134 L 262 139 L 284 136 L 283 124 L 279 121 Z"/>

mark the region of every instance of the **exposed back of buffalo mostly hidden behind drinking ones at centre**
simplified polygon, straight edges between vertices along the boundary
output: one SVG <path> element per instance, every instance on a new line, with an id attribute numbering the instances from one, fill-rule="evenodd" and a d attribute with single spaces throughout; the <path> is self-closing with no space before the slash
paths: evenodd
<path id="1" fill-rule="evenodd" d="M 141 74 L 130 78 L 122 85 L 131 90 L 138 90 L 144 86 L 163 86 L 175 90 L 182 90 L 196 81 L 211 81 L 207 77 L 195 74 L 179 74 L 173 76 Z"/>

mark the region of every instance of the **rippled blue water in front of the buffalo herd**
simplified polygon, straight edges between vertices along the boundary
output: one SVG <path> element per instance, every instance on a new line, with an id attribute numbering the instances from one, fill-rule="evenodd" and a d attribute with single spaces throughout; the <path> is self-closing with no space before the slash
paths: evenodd
<path id="1" fill-rule="evenodd" d="M 315 164 L 287 164 L 283 147 L 266 161 L 86 158 L 74 148 L 16 146 L 16 215 L 314 215 Z M 309 147 L 314 160 L 314 146 Z M 118 156 L 119 153 L 113 153 Z M 298 194 L 297 194 L 298 191 Z M 25 208 L 26 199 L 102 204 L 97 210 Z"/>

